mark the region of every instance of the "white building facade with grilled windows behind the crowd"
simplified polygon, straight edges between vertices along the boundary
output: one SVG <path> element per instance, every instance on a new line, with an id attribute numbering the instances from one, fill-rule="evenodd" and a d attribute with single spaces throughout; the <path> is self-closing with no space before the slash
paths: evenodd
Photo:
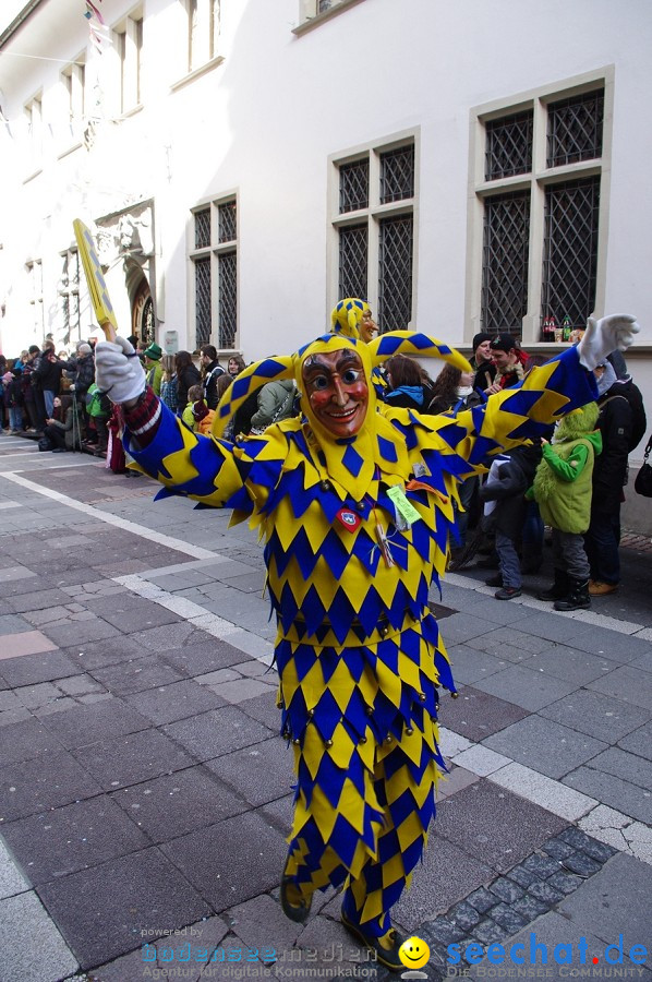
<path id="1" fill-rule="evenodd" d="M 121 332 L 170 352 L 294 350 L 351 295 L 467 350 L 625 311 L 652 393 L 649 0 L 13 7 L 7 356 L 97 333 L 80 217 Z"/>

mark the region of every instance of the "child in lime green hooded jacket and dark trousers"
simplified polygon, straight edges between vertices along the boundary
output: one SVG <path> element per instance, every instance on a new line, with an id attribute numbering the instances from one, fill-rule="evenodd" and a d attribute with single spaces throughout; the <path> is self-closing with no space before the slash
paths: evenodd
<path id="1" fill-rule="evenodd" d="M 543 457 L 528 492 L 553 529 L 555 582 L 539 599 L 554 600 L 555 610 L 591 606 L 583 532 L 591 517 L 593 460 L 602 451 L 602 436 L 595 429 L 597 414 L 597 404 L 589 403 L 564 417 L 554 443 L 541 441 Z"/>

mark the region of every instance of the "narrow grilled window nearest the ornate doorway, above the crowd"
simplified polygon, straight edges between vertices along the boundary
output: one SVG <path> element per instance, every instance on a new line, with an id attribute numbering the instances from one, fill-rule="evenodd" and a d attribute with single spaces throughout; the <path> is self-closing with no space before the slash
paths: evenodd
<path id="1" fill-rule="evenodd" d="M 238 204 L 234 197 L 193 213 L 195 350 L 233 350 L 238 337 Z"/>

